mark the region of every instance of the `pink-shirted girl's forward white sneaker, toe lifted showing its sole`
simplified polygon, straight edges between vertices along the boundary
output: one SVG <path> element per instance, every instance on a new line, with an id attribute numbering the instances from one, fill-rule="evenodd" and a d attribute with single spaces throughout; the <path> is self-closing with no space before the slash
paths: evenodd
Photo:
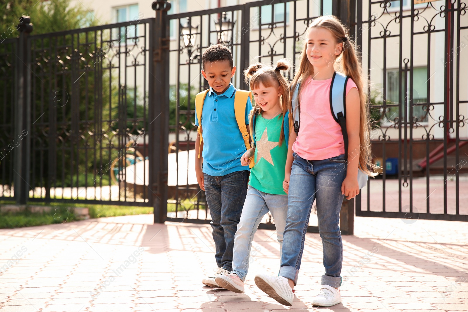
<path id="1" fill-rule="evenodd" d="M 282 305 L 291 306 L 294 293 L 288 284 L 288 279 L 283 276 L 269 276 L 266 274 L 255 275 L 255 283 L 270 297 Z"/>

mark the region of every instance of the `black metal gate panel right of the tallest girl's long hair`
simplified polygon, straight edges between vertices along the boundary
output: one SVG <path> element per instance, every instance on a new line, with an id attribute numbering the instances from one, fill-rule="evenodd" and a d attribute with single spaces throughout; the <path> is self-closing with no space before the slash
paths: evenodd
<path id="1" fill-rule="evenodd" d="M 466 3 L 415 2 L 424 1 L 357 1 L 373 153 L 384 168 L 356 215 L 468 221 Z"/>

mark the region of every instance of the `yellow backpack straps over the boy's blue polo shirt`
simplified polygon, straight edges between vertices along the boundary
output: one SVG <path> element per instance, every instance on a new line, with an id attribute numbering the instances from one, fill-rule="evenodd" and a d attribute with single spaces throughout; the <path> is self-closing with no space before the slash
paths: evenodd
<path id="1" fill-rule="evenodd" d="M 198 134 L 200 134 L 200 148 L 202 146 L 203 137 L 202 137 L 202 111 L 203 111 L 203 102 L 205 102 L 206 94 L 210 89 L 202 91 L 197 94 L 195 97 L 195 107 L 197 110 L 197 119 L 198 119 Z M 234 95 L 234 112 L 237 125 L 241 131 L 242 138 L 244 139 L 245 148 L 250 149 L 249 133 L 247 132 L 247 126 L 245 125 L 245 104 L 247 99 L 250 97 L 252 101 L 252 93 L 245 90 L 236 90 Z M 200 158 L 200 149 L 198 149 L 198 158 Z M 253 157 L 250 158 L 249 168 L 254 166 Z"/>

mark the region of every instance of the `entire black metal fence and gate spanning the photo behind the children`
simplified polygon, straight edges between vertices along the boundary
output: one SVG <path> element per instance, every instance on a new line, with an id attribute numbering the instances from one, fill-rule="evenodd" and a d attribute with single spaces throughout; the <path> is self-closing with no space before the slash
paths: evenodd
<path id="1" fill-rule="evenodd" d="M 233 83 L 247 89 L 242 69 L 296 63 L 308 25 L 334 14 L 362 53 L 373 156 L 384 167 L 357 197 L 356 215 L 468 221 L 464 2 L 153 8 L 155 18 L 31 36 L 24 19 L 20 37 L 0 43 L 1 200 L 152 206 L 155 222 L 209 222 L 193 170 L 195 94 L 207 88 L 201 54 L 227 45 Z M 345 201 L 349 233 L 353 211 Z"/>

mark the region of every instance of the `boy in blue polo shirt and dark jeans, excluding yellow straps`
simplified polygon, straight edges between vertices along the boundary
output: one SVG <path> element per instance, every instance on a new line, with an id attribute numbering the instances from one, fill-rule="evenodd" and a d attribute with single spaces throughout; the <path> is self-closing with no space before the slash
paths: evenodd
<path id="1" fill-rule="evenodd" d="M 242 166 L 240 161 L 247 149 L 234 113 L 236 89 L 231 78 L 236 67 L 231 51 L 224 45 L 208 47 L 202 55 L 202 67 L 203 77 L 208 81 L 210 90 L 203 104 L 201 125 L 195 119 L 195 126 L 201 126 L 203 130 L 202 144 L 200 135 L 197 135 L 195 144 L 195 171 L 198 184 L 205 191 L 212 217 L 210 224 L 217 264 L 213 274 L 202 282 L 218 287 L 216 276 L 227 275 L 232 271 L 234 235 L 247 194 L 249 166 Z M 251 110 L 252 103 L 248 98 L 245 104 L 246 125 L 249 125 Z M 249 132 L 249 127 L 247 129 Z"/>

